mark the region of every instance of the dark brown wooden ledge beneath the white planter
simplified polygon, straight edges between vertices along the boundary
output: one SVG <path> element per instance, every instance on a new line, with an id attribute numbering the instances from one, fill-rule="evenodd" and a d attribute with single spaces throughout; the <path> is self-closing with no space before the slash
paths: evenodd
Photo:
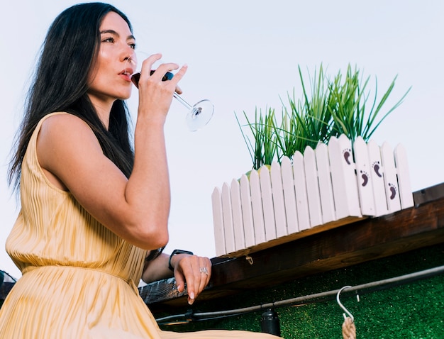
<path id="1" fill-rule="evenodd" d="M 196 303 L 444 243 L 444 184 L 414 192 L 414 201 L 410 209 L 365 218 L 247 256 L 215 257 L 209 287 Z M 175 289 L 174 279 L 153 282 L 139 291 L 152 311 L 187 303 L 186 294 Z"/>

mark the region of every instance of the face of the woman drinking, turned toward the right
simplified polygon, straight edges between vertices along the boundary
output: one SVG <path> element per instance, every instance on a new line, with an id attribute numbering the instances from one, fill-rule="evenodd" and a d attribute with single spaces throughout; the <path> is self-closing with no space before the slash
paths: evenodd
<path id="1" fill-rule="evenodd" d="M 126 21 L 115 12 L 107 13 L 100 26 L 99 54 L 89 74 L 88 94 L 93 104 L 112 104 L 131 96 L 126 60 L 134 48 L 135 38 Z"/>

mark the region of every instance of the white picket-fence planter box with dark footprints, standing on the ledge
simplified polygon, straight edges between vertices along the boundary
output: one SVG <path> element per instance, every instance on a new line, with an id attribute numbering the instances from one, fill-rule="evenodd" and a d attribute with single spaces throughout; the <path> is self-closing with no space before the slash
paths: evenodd
<path id="1" fill-rule="evenodd" d="M 414 206 L 404 147 L 357 138 L 352 152 L 345 135 L 224 183 L 211 200 L 218 257 Z"/>

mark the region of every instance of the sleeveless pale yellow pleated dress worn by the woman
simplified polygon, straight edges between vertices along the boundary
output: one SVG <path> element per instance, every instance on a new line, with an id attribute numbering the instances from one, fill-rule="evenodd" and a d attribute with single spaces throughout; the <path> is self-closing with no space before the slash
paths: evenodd
<path id="1" fill-rule="evenodd" d="M 276 338 L 160 330 L 136 287 L 147 252 L 112 233 L 43 174 L 36 140 L 45 118 L 23 159 L 21 212 L 6 240 L 22 277 L 0 309 L 0 338 Z"/>

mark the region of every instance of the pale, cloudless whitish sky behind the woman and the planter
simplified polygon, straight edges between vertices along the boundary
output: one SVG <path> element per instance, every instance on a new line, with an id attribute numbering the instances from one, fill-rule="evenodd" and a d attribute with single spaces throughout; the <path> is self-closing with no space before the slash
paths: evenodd
<path id="1" fill-rule="evenodd" d="M 1 5 L 0 269 L 21 273 L 4 250 L 19 206 L 6 184 L 11 143 L 35 57 L 55 16 L 78 1 L 14 0 Z M 180 86 L 190 104 L 208 98 L 213 120 L 192 133 L 175 102 L 165 126 L 172 184 L 170 244 L 213 257 L 211 193 L 251 168 L 234 113 L 280 111 L 287 92 L 299 90 L 298 65 L 308 77 L 321 62 L 327 74 L 350 63 L 377 77 L 379 94 L 398 75 L 394 104 L 401 106 L 373 139 L 403 144 L 414 191 L 444 182 L 444 2 L 376 1 L 152 1 L 115 0 L 128 15 L 140 50 L 187 63 Z M 307 78 L 308 79 L 308 78 Z M 388 107 L 389 105 L 387 105 Z M 135 112 L 135 105 L 130 102 Z"/>

